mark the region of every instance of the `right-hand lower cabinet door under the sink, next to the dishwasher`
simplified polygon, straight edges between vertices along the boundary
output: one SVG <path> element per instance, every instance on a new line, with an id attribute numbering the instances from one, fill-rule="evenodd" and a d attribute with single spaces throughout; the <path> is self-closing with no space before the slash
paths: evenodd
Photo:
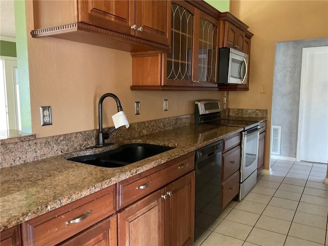
<path id="1" fill-rule="evenodd" d="M 165 245 L 190 245 L 195 227 L 195 171 L 165 188 Z"/>

